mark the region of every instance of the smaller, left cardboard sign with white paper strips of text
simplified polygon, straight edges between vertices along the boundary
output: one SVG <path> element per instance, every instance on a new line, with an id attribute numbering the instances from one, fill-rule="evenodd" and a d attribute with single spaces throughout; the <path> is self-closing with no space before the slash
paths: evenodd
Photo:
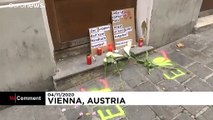
<path id="1" fill-rule="evenodd" d="M 89 34 L 92 55 L 96 55 L 98 48 L 102 48 L 103 52 L 107 52 L 107 45 L 114 45 L 111 24 L 89 28 Z"/>

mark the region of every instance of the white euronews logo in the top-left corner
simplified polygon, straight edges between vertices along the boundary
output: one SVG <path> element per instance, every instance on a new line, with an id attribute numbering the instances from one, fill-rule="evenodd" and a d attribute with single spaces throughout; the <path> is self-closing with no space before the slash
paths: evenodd
<path id="1" fill-rule="evenodd" d="M 42 3 L 40 0 L 37 2 L 30 2 L 30 3 L 10 3 L 10 8 L 45 8 L 44 3 Z"/>

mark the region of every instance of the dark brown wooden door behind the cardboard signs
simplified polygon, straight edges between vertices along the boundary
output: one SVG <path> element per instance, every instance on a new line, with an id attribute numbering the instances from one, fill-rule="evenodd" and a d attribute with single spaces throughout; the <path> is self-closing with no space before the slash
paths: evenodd
<path id="1" fill-rule="evenodd" d="M 111 11 L 137 0 L 45 0 L 55 51 L 89 44 L 88 28 L 111 22 Z"/>

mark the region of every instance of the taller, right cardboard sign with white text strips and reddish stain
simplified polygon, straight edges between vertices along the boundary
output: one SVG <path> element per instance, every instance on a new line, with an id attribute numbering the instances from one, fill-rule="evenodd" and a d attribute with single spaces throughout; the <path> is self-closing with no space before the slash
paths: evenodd
<path id="1" fill-rule="evenodd" d="M 112 26 L 117 50 L 136 44 L 134 8 L 112 11 Z"/>

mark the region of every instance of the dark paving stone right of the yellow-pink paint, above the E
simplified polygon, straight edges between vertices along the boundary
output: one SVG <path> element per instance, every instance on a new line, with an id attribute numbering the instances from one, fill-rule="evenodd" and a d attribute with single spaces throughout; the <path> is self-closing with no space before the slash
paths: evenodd
<path id="1" fill-rule="evenodd" d="M 181 66 L 187 66 L 193 62 L 190 58 L 185 57 L 177 52 L 173 52 L 169 54 L 169 58 L 173 61 L 178 63 Z"/>

